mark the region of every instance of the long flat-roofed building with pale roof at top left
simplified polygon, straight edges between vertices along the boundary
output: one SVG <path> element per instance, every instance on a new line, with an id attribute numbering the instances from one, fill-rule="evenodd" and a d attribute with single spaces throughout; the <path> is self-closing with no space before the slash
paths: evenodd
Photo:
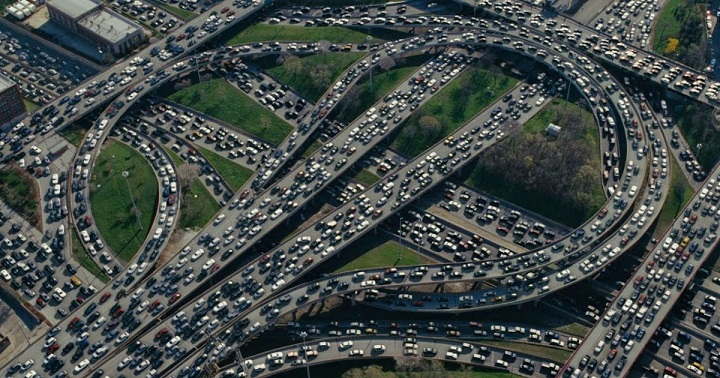
<path id="1" fill-rule="evenodd" d="M 103 7 L 101 0 L 49 0 L 50 19 L 104 53 L 125 55 L 145 40 L 140 25 Z"/>

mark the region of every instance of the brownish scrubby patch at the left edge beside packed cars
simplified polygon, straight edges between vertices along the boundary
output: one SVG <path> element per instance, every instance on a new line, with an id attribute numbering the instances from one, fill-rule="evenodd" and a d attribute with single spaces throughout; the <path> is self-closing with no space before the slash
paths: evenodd
<path id="1" fill-rule="evenodd" d="M 40 193 L 35 179 L 25 170 L 16 166 L 0 170 L 0 199 L 28 223 L 42 230 L 42 212 L 38 208 Z"/>

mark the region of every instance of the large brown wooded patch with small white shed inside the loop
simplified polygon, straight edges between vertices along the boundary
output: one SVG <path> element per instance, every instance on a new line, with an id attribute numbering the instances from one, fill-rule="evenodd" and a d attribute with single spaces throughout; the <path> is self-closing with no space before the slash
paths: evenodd
<path id="1" fill-rule="evenodd" d="M 560 135 L 545 134 L 548 123 Z M 567 226 L 605 203 L 595 119 L 583 107 L 553 100 L 522 132 L 489 148 L 466 183 Z"/>

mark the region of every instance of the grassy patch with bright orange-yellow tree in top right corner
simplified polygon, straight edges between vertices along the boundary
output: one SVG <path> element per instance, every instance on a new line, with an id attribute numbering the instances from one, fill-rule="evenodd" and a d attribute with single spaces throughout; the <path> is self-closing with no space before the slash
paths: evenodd
<path id="1" fill-rule="evenodd" d="M 707 4 L 695 0 L 668 0 L 660 11 L 652 32 L 655 52 L 690 67 L 705 63 Z"/>

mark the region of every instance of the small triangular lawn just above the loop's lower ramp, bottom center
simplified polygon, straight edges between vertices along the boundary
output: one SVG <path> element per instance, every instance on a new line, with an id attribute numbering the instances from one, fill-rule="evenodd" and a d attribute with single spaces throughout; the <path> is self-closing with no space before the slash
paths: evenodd
<path id="1" fill-rule="evenodd" d="M 398 261 L 398 248 L 400 249 L 400 261 Z M 400 246 L 395 241 L 387 241 L 338 268 L 335 273 L 357 269 L 422 265 L 430 264 L 432 262 L 433 261 L 427 257 L 420 255 L 409 248 Z"/>

